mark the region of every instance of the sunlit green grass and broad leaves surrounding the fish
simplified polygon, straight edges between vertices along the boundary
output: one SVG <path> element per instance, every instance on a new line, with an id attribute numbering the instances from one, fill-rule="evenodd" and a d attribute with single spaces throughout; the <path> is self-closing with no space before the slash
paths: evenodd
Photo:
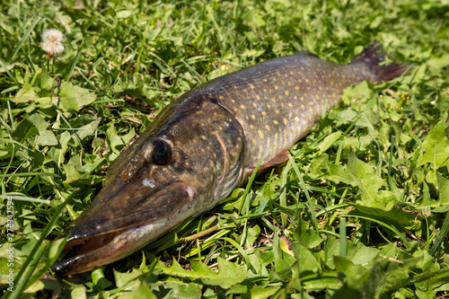
<path id="1" fill-rule="evenodd" d="M 5 295 L 449 296 L 445 2 L 84 4 L 0 4 Z M 55 64 L 39 47 L 48 28 L 65 34 Z M 289 151 L 286 166 L 126 259 L 74 277 L 49 271 L 62 245 L 53 240 L 101 189 L 107 165 L 172 99 L 297 50 L 348 63 L 374 40 L 387 62 L 414 70 L 391 83 L 349 88 Z M 13 268 L 5 251 L 12 243 Z M 5 291 L 10 269 L 13 293 Z"/>

